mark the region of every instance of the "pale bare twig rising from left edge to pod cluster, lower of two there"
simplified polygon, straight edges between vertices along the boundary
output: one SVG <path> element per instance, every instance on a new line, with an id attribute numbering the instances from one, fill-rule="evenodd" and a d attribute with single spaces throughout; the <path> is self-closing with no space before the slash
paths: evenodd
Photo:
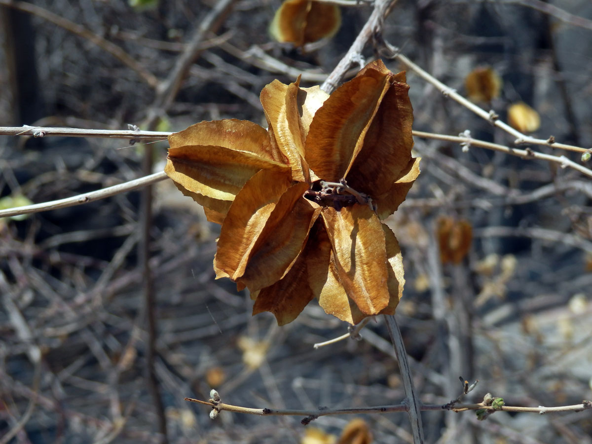
<path id="1" fill-rule="evenodd" d="M 40 211 L 57 210 L 58 208 L 73 207 L 74 205 L 88 204 L 96 200 L 104 199 L 106 197 L 114 196 L 134 189 L 142 188 L 143 186 L 155 184 L 156 182 L 166 179 L 168 176 L 164 171 L 154 173 L 149 176 L 144 176 L 133 181 L 124 182 L 123 184 L 109 186 L 97 191 L 79 194 L 65 199 L 56 201 L 43 202 L 41 204 L 25 205 L 24 207 L 8 208 L 8 210 L 0 210 L 0 217 L 11 217 L 19 214 L 39 213 Z"/>

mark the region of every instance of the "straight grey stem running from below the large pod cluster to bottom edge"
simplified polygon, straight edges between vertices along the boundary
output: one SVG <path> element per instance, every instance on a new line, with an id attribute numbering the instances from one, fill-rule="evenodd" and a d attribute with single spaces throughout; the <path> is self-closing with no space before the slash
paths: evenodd
<path id="1" fill-rule="evenodd" d="M 422 410 L 422 401 L 419 400 L 413 385 L 413 377 L 411 376 L 411 368 L 409 366 L 409 361 L 407 360 L 407 350 L 403 343 L 403 336 L 401 336 L 397 320 L 395 320 L 394 316 L 385 315 L 384 320 L 387 322 L 388 334 L 390 335 L 392 345 L 395 348 L 401 379 L 403 379 L 403 387 L 406 396 L 403 404 L 408 407 L 407 414 L 409 415 L 409 422 L 411 423 L 413 442 L 414 444 L 423 444 L 422 414 L 420 413 Z"/>

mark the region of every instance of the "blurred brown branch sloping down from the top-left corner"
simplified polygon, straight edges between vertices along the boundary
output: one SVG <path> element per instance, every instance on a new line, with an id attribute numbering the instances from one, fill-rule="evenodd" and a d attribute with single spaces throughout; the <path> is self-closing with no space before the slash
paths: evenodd
<path id="1" fill-rule="evenodd" d="M 152 88 L 156 88 L 156 86 L 158 85 L 158 79 L 156 78 L 156 76 L 147 71 L 140 63 L 134 60 L 133 57 L 130 57 L 128 53 L 126 53 L 116 44 L 111 43 L 111 41 L 105 40 L 105 38 L 98 36 L 95 33 L 92 33 L 83 25 L 79 25 L 78 23 L 69 21 L 66 18 L 60 17 L 60 15 L 54 14 L 53 12 L 47 11 L 47 9 L 43 9 L 36 5 L 33 5 L 30 2 L 0 0 L 0 5 L 5 5 L 7 7 L 18 9 L 20 11 L 28 12 L 29 14 L 37 15 L 38 17 L 41 17 L 44 20 L 52 22 L 54 25 L 57 25 L 61 28 L 64 28 L 67 31 L 70 31 L 70 33 L 76 34 L 76 36 L 86 38 L 86 40 L 91 41 L 96 46 L 100 47 L 102 50 L 105 50 L 105 52 L 110 53 L 116 59 L 120 60 L 121 63 L 136 71 L 136 73 L 141 77 L 141 79 L 148 85 L 152 86 Z M 31 56 L 32 55 L 33 54 L 31 54 Z"/>

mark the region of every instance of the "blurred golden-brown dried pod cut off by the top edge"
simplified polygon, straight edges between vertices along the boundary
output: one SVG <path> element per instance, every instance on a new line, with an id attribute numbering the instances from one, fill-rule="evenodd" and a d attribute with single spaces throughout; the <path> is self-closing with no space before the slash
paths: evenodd
<path id="1" fill-rule="evenodd" d="M 276 11 L 269 33 L 279 42 L 303 46 L 332 37 L 341 25 L 337 5 L 313 0 L 286 0 Z"/>

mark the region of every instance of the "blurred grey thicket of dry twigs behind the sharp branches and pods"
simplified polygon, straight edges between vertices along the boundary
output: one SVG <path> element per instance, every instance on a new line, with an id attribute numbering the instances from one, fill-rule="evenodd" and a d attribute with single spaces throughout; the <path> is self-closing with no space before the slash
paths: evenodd
<path id="1" fill-rule="evenodd" d="M 6 3 L 0 2 L 1 126 L 127 129 L 143 122 L 155 92 L 137 72 L 48 22 L 43 11 L 25 14 Z M 215 1 L 162 1 L 143 12 L 124 0 L 33 3 L 120 46 L 162 79 Z M 504 83 L 490 107 L 502 119 L 508 104 L 522 100 L 540 113 L 536 136 L 590 147 L 591 27 L 526 4 L 544 5 L 400 0 L 385 22 L 385 38 L 462 94 L 467 73 L 492 66 Z M 587 0 L 548 4 L 592 19 Z M 294 81 L 300 72 L 313 79 L 305 86 L 322 82 L 371 11 L 369 5 L 342 8 L 337 36 L 301 52 L 268 36 L 278 6 L 275 0 L 236 3 L 217 32 L 223 37 L 210 42 L 161 113 L 160 129 L 218 118 L 263 123 L 260 89 L 275 78 Z M 364 56 L 373 56 L 370 47 Z M 470 130 L 480 139 L 513 143 L 413 72 L 408 83 L 416 130 Z M 155 169 L 162 168 L 166 147 L 166 141 L 130 147 L 126 140 L 4 136 L 0 192 L 43 202 L 99 189 L 141 175 L 145 150 L 154 150 Z M 480 379 L 469 400 L 486 392 L 518 406 L 592 398 L 590 179 L 478 147 L 462 152 L 444 141 L 416 138 L 416 150 L 424 158 L 422 175 L 389 224 L 403 248 L 407 284 L 397 316 L 422 400 L 455 398 L 461 375 Z M 580 161 L 577 153 L 566 155 Z M 184 401 L 207 399 L 211 385 L 223 401 L 247 407 L 403 399 L 382 319 L 371 321 L 360 341 L 313 349 L 345 333 L 346 325 L 314 304 L 282 328 L 269 313 L 251 317 L 247 294 L 214 281 L 218 226 L 169 181 L 157 185 L 154 203 L 156 374 L 169 442 L 301 442 L 300 417 L 223 412 L 213 422 L 207 408 Z M 440 263 L 434 233 L 441 216 L 472 226 L 471 250 L 459 265 Z M 0 221 L 0 441 L 30 413 L 11 442 L 159 442 L 144 371 L 138 220 L 139 192 L 129 192 Z M 39 378 L 32 363 L 37 349 Z M 33 397 L 36 406 L 26 412 Z M 339 435 L 350 419 L 322 417 L 308 427 Z M 403 413 L 364 419 L 375 442 L 411 442 Z M 497 412 L 483 422 L 474 412 L 430 412 L 423 422 L 430 443 L 592 443 L 590 410 Z"/>

